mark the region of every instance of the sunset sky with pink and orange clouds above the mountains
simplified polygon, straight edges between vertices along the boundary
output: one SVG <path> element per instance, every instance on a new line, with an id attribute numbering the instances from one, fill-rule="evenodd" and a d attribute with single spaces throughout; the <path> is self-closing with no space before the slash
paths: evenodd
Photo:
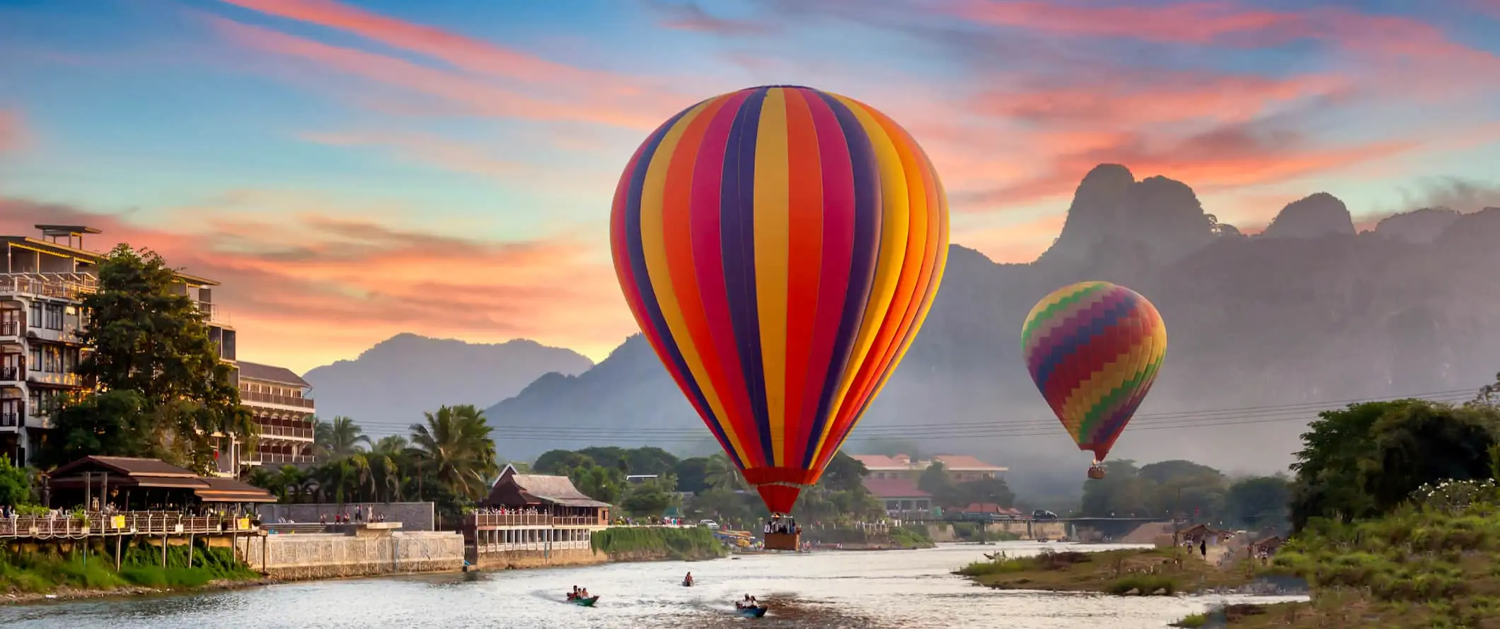
<path id="1" fill-rule="evenodd" d="M 602 359 L 626 162 L 762 84 L 890 114 L 998 262 L 1098 163 L 1245 231 L 1500 205 L 1500 0 L 0 0 L 0 229 L 216 279 L 298 373 L 404 331 Z"/>

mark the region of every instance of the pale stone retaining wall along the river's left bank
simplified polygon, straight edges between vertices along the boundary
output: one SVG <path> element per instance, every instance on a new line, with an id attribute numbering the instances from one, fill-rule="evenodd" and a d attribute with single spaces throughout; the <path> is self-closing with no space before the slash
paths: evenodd
<path id="1" fill-rule="evenodd" d="M 362 529 L 356 535 L 268 535 L 240 544 L 252 569 L 280 580 L 441 572 L 464 568 L 464 536 L 453 532 Z"/>

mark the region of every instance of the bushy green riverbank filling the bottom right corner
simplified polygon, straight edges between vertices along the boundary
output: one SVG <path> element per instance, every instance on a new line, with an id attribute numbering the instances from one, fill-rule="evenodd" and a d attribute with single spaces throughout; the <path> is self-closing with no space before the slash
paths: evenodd
<path id="1" fill-rule="evenodd" d="M 1500 508 L 1404 509 L 1311 526 L 1276 553 L 1272 572 L 1308 580 L 1312 601 L 1240 605 L 1214 620 L 1245 629 L 1500 628 Z M 1204 626 L 1218 614 L 1184 625 Z"/>

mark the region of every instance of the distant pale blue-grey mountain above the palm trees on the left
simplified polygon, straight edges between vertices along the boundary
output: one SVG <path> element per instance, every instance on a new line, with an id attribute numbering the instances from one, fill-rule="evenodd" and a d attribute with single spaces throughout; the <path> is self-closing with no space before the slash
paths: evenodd
<path id="1" fill-rule="evenodd" d="M 549 371 L 584 373 L 592 365 L 572 349 L 530 340 L 465 343 L 398 334 L 303 379 L 312 383 L 318 416 L 348 415 L 378 436 L 406 434 L 408 424 L 442 404 L 484 407 Z"/>

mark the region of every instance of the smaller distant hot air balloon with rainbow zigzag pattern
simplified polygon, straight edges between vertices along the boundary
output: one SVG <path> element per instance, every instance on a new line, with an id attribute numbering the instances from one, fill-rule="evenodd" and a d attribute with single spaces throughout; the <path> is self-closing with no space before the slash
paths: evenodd
<path id="1" fill-rule="evenodd" d="M 1108 282 L 1080 282 L 1044 297 L 1026 314 L 1022 356 L 1041 395 L 1078 443 L 1094 452 L 1089 478 L 1146 398 L 1167 355 L 1167 326 L 1144 297 Z"/>

